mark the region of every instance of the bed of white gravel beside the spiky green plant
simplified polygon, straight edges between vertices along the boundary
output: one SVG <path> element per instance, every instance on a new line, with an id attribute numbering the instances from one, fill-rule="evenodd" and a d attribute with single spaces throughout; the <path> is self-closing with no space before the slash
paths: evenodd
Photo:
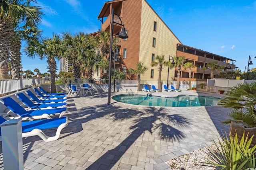
<path id="1" fill-rule="evenodd" d="M 219 145 L 217 145 L 219 146 Z M 195 150 L 189 154 L 179 156 L 166 162 L 172 170 L 220 170 L 221 168 L 216 168 L 216 166 L 211 166 L 210 164 L 202 164 L 200 162 L 206 162 L 206 160 L 212 160 L 208 155 L 210 153 L 209 148 L 212 150 L 216 149 L 216 145 L 210 145 L 200 150 Z"/>

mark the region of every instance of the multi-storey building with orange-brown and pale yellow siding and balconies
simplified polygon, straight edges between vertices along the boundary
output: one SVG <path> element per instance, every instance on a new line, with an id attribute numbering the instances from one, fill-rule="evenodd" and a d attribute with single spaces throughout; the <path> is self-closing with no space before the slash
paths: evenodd
<path id="1" fill-rule="evenodd" d="M 116 68 L 126 72 L 127 78 L 131 78 L 127 74 L 128 68 L 135 68 L 136 63 L 142 62 L 148 67 L 148 70 L 141 75 L 141 80 L 158 80 L 158 66 L 150 66 L 157 55 L 164 55 L 166 61 L 169 60 L 169 56 L 185 56 L 186 61 L 197 66 L 192 69 L 192 80 L 197 81 L 209 78 L 210 70 L 202 70 L 206 63 L 218 61 L 219 65 L 225 67 L 224 71 L 236 68 L 234 65 L 236 61 L 232 59 L 183 45 L 146 0 L 105 2 L 98 15 L 98 19 L 102 21 L 102 31 L 111 31 L 112 8 L 120 16 L 118 18 L 114 15 L 114 22 L 121 23 L 121 19 L 129 36 L 128 39 L 118 40 L 117 45 L 121 56 L 118 56 L 115 61 Z M 118 38 L 121 29 L 121 25 L 114 23 L 113 38 Z M 161 79 L 167 80 L 167 74 L 168 67 L 164 66 Z M 180 77 L 180 80 L 188 80 L 188 70 L 182 68 Z M 169 72 L 169 80 L 176 80 L 176 78 L 177 68 Z"/>

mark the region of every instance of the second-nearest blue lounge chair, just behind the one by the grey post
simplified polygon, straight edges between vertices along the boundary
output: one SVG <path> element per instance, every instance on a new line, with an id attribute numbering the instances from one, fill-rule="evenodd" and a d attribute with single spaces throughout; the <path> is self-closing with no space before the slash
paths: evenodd
<path id="1" fill-rule="evenodd" d="M 0 102 L 4 104 L 8 109 L 17 114 L 14 119 L 30 120 L 30 119 L 52 119 L 50 115 L 59 115 L 62 117 L 67 112 L 67 108 L 54 108 L 54 109 L 42 109 L 42 110 L 25 110 L 12 98 L 6 97 L 0 99 Z"/>

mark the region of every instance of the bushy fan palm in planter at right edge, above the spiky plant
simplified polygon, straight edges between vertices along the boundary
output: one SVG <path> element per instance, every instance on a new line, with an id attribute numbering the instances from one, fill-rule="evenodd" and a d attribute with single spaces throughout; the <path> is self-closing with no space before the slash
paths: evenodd
<path id="1" fill-rule="evenodd" d="M 228 119 L 222 123 L 229 124 L 234 119 L 243 121 L 247 127 L 256 127 L 256 82 L 230 88 L 218 105 L 231 108 Z"/>

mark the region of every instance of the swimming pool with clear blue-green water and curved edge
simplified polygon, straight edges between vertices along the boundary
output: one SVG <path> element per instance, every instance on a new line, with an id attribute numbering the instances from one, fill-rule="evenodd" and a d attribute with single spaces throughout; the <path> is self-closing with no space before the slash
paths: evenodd
<path id="1" fill-rule="evenodd" d="M 183 96 L 176 98 L 144 95 L 121 94 L 113 96 L 112 99 L 134 105 L 142 106 L 164 106 L 164 107 L 193 107 L 193 106 L 217 106 L 219 98 L 206 96 Z"/>

